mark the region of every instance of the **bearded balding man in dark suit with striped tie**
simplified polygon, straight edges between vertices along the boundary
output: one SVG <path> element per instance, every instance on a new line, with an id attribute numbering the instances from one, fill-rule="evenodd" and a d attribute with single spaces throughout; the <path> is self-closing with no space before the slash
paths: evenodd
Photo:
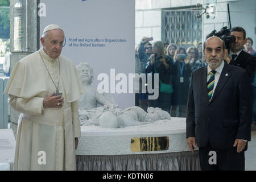
<path id="1" fill-rule="evenodd" d="M 250 141 L 251 100 L 245 70 L 223 61 L 225 43 L 204 42 L 208 65 L 192 72 L 187 105 L 187 142 L 199 147 L 203 170 L 244 170 Z"/>

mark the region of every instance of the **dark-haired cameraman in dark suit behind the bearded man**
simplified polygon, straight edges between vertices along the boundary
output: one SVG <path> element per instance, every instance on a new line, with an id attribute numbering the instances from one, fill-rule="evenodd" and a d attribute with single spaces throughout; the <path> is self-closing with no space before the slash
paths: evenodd
<path id="1" fill-rule="evenodd" d="M 256 57 L 243 51 L 243 45 L 247 42 L 246 32 L 242 27 L 233 27 L 230 35 L 235 36 L 236 41 L 230 43 L 229 54 L 226 53 L 224 60 L 230 65 L 245 69 L 252 79 L 256 66 Z"/>

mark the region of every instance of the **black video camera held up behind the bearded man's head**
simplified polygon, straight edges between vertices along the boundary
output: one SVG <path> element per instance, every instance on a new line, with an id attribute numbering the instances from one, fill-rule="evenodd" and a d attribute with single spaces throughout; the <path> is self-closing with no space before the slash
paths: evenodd
<path id="1" fill-rule="evenodd" d="M 207 35 L 207 39 L 211 36 L 217 36 L 218 38 L 223 40 L 226 45 L 225 48 L 228 49 L 228 51 L 230 49 L 229 44 L 236 41 L 236 37 L 230 35 L 230 30 L 228 29 L 228 27 L 223 27 L 218 32 L 216 32 L 216 30 L 213 30 L 212 32 L 210 32 L 210 34 Z"/>

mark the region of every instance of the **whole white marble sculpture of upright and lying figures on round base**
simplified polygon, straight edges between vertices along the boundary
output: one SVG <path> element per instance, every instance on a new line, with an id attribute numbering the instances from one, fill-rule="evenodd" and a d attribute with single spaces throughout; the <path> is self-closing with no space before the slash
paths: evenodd
<path id="1" fill-rule="evenodd" d="M 96 125 L 105 128 L 146 125 L 159 119 L 171 119 L 167 111 L 158 107 L 131 106 L 121 110 L 109 94 L 100 94 L 91 86 L 93 69 L 88 63 L 77 65 L 77 71 L 85 88 L 85 94 L 78 101 L 81 126 Z M 101 104 L 102 106 L 98 106 Z"/>

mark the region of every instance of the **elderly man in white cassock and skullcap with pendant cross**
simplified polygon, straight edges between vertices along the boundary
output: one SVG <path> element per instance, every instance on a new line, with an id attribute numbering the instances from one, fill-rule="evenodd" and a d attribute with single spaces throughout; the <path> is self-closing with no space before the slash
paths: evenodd
<path id="1" fill-rule="evenodd" d="M 76 170 L 81 137 L 77 100 L 84 87 L 72 61 L 61 56 L 64 32 L 50 24 L 43 47 L 16 65 L 5 94 L 19 111 L 14 170 Z"/>

